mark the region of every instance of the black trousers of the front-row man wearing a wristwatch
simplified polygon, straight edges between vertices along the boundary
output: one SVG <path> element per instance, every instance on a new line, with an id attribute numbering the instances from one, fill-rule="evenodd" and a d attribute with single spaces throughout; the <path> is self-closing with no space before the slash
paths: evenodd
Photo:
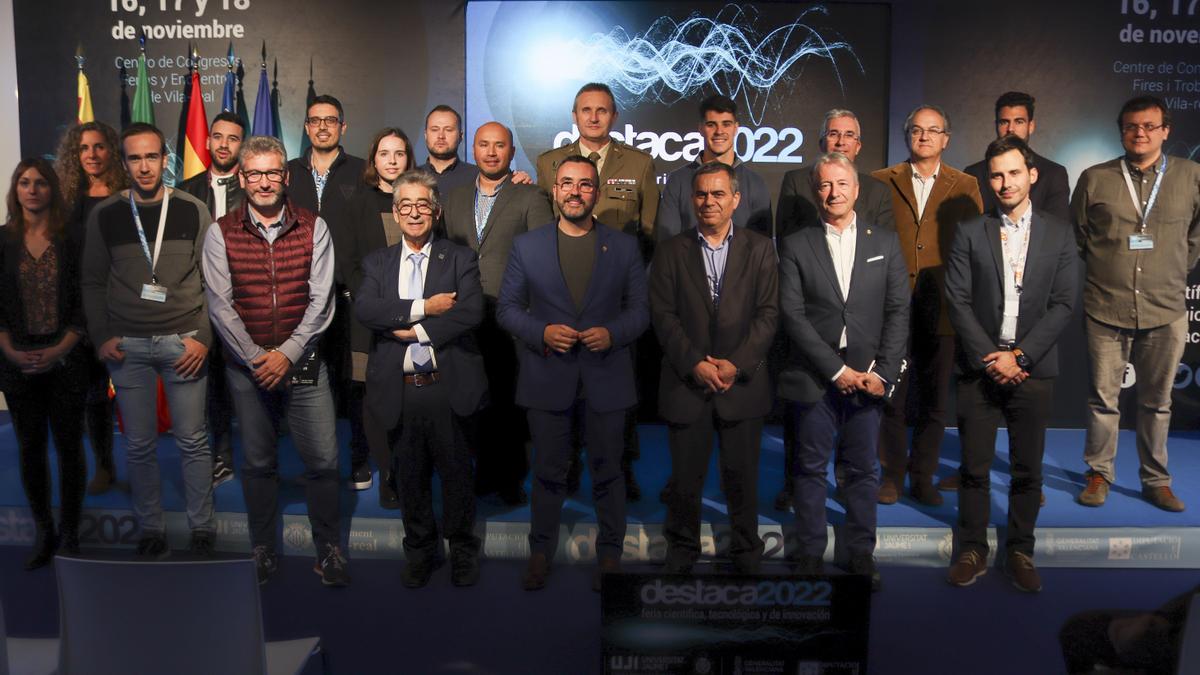
<path id="1" fill-rule="evenodd" d="M 988 554 L 989 473 L 996 456 L 996 428 L 1004 423 L 1012 476 L 1004 548 L 1033 555 L 1033 527 L 1042 500 L 1042 455 L 1052 407 L 1052 378 L 1030 378 L 1016 387 L 1002 387 L 988 377 L 959 381 L 958 417 L 962 441 L 959 474 L 962 484 L 959 486 L 956 534 L 960 552 Z"/>

